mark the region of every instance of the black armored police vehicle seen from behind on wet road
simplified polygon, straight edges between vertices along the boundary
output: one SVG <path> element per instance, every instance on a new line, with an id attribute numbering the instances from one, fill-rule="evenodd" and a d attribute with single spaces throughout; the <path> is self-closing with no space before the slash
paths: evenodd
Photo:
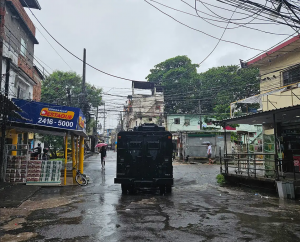
<path id="1" fill-rule="evenodd" d="M 172 134 L 156 124 L 143 124 L 118 133 L 115 183 L 122 193 L 137 188 L 159 188 L 170 193 L 173 186 Z"/>

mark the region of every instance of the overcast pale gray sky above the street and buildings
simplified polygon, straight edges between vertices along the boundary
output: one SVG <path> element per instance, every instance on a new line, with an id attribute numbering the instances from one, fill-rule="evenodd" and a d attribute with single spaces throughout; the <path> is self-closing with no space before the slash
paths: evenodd
<path id="1" fill-rule="evenodd" d="M 150 1 L 150 0 L 149 0 Z M 195 10 L 180 0 L 157 0 L 173 8 L 195 14 Z M 194 5 L 194 0 L 185 0 Z M 151 2 L 151 1 L 150 1 Z M 216 0 L 203 2 L 220 5 Z M 193 63 L 200 63 L 215 47 L 218 40 L 189 29 L 159 12 L 143 0 L 39 0 L 42 10 L 32 10 L 47 30 L 65 47 L 82 57 L 87 49 L 87 62 L 113 75 L 145 81 L 154 65 L 177 55 L 187 55 Z M 151 2 L 179 21 L 219 38 L 223 29 L 214 27 L 202 19 L 165 8 Z M 222 5 L 224 6 L 224 5 Z M 232 13 L 210 7 L 214 12 L 230 17 Z M 209 13 L 203 5 L 198 9 Z M 72 71 L 82 74 L 82 63 L 64 51 L 42 29 L 32 14 L 28 15 L 37 27 L 35 55 L 52 70 Z M 211 14 L 211 13 L 210 13 Z M 205 16 L 201 14 L 201 16 Z M 235 14 L 238 18 L 241 15 Z M 245 22 L 250 21 L 246 19 Z M 253 20 L 253 22 L 257 20 Z M 221 23 L 223 27 L 226 23 Z M 283 25 L 248 25 L 262 30 L 281 34 L 291 34 L 292 29 Z M 228 27 L 236 27 L 229 24 Z M 64 61 L 47 43 L 47 38 L 60 53 Z M 271 35 L 246 28 L 228 29 L 223 39 L 242 45 L 265 50 L 287 36 Z M 200 66 L 198 72 L 211 67 L 238 64 L 239 59 L 247 60 L 257 50 L 247 49 L 235 44 L 220 42 L 216 50 Z M 51 69 L 45 66 L 51 72 Z M 131 82 L 116 79 L 87 67 L 87 82 L 102 87 L 104 92 L 128 95 Z M 116 105 L 124 104 L 125 98 L 104 95 L 107 108 L 119 110 Z M 107 128 L 117 124 L 116 112 L 107 115 Z"/>

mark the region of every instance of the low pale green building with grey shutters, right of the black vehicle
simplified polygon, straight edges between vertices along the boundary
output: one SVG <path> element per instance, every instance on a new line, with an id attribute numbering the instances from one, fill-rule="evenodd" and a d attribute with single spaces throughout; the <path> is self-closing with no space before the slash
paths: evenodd
<path id="1" fill-rule="evenodd" d="M 177 143 L 178 156 L 186 157 L 206 157 L 207 146 L 205 142 L 212 144 L 212 157 L 224 154 L 225 139 L 224 129 L 212 122 L 207 122 L 201 116 L 202 127 L 200 129 L 200 116 L 196 114 L 168 114 L 167 130 L 173 133 L 173 140 Z M 246 143 L 249 142 L 258 146 L 256 141 L 262 132 L 261 125 L 242 124 L 236 128 L 226 127 L 226 148 L 231 151 L 232 147 L 236 150 L 246 150 Z M 231 132 L 237 133 L 237 142 L 231 142 Z M 256 148 L 254 147 L 254 149 Z"/>

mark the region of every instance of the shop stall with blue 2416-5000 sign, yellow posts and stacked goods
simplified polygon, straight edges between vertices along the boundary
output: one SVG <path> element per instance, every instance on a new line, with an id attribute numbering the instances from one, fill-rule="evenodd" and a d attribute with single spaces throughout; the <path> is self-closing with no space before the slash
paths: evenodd
<path id="1" fill-rule="evenodd" d="M 13 99 L 12 101 L 21 108 L 22 111 L 19 111 L 19 114 L 24 118 L 11 118 L 8 130 L 65 136 L 66 154 L 68 135 L 70 135 L 73 151 L 72 167 L 77 166 L 83 173 L 86 121 L 82 111 L 79 108 L 22 99 Z M 76 153 L 75 142 L 79 142 L 79 149 L 76 148 Z M 17 139 L 13 140 L 13 144 L 7 145 L 7 182 L 26 183 L 27 185 L 60 185 L 60 174 L 63 167 L 64 185 L 66 185 L 67 156 L 64 161 L 52 161 L 43 156 L 32 157 L 29 154 L 29 145 L 18 144 Z M 74 177 L 75 174 L 74 170 Z"/>

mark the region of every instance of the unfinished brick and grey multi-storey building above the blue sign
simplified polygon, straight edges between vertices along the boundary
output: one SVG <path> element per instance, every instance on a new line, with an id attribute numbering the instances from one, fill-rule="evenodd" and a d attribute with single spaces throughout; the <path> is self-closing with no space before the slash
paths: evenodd
<path id="1" fill-rule="evenodd" d="M 10 61 L 9 98 L 40 100 L 43 75 L 33 64 L 35 26 L 25 11 L 25 7 L 41 9 L 37 0 L 6 0 L 1 11 L 3 29 L 2 73 Z M 4 85 L 1 85 L 4 88 Z M 2 90 L 3 91 L 3 90 Z"/>

